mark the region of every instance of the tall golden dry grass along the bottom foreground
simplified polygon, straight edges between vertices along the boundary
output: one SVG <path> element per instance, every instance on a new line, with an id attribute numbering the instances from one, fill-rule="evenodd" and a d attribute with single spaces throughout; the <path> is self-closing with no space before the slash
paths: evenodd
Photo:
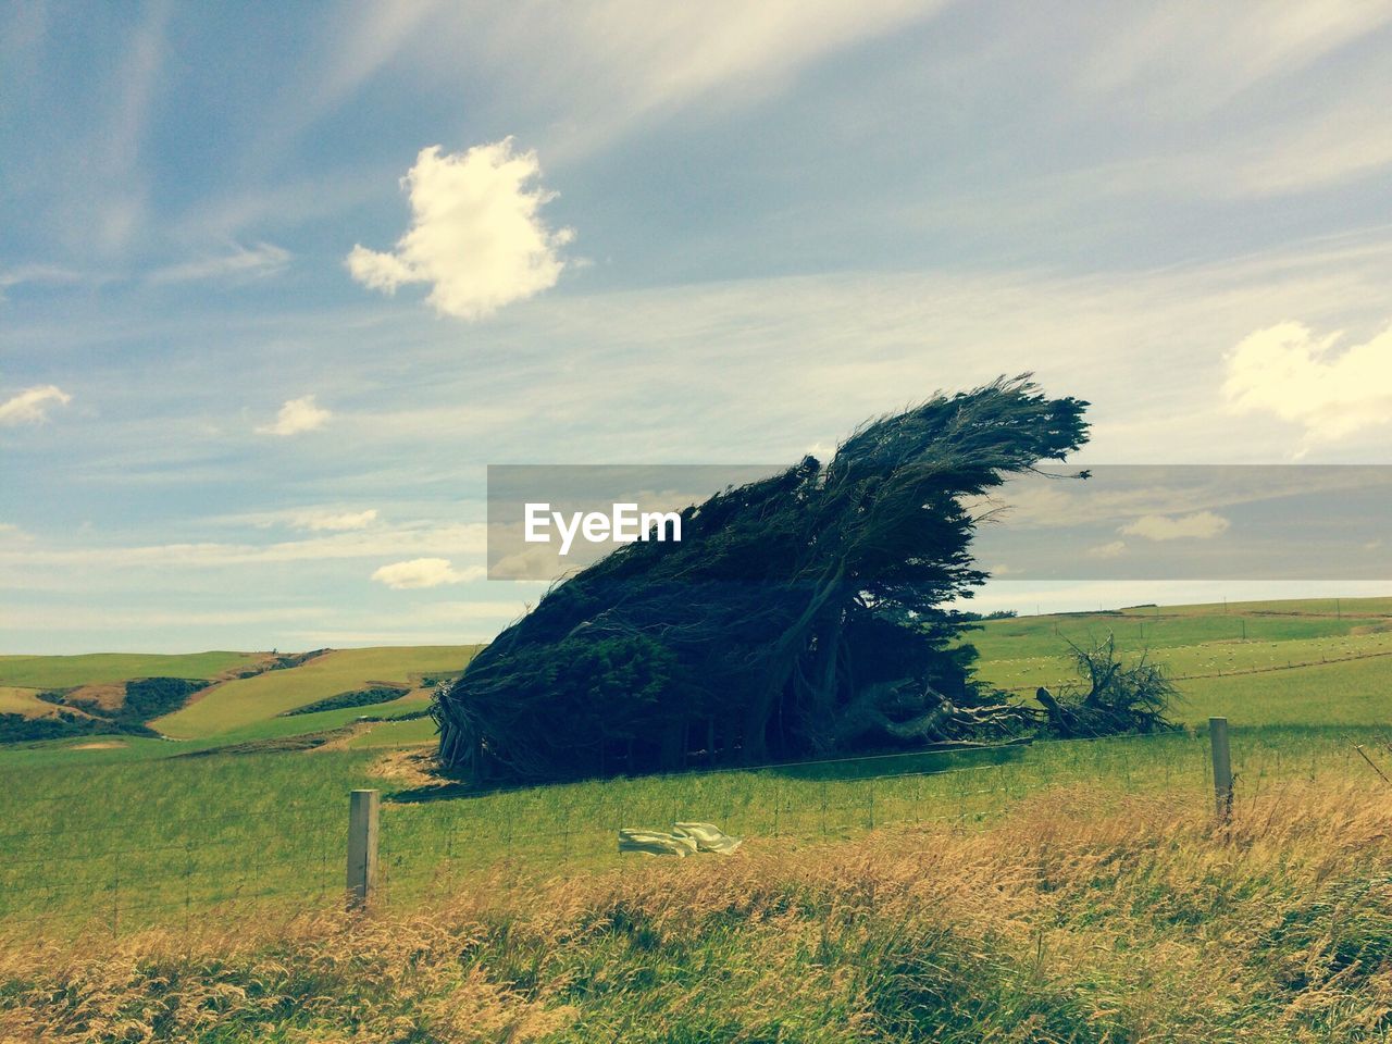
<path id="1" fill-rule="evenodd" d="M 984 832 L 476 881 L 0 956 L 4 1041 L 1392 1040 L 1392 792 L 1054 791 Z"/>

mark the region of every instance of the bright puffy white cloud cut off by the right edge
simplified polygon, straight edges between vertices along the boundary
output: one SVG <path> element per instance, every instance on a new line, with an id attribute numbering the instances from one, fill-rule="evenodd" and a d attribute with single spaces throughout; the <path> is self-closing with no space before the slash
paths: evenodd
<path id="1" fill-rule="evenodd" d="M 1340 333 L 1300 323 L 1257 330 L 1228 356 L 1224 394 L 1235 413 L 1265 412 L 1336 441 L 1392 419 L 1392 327 L 1335 354 Z"/>

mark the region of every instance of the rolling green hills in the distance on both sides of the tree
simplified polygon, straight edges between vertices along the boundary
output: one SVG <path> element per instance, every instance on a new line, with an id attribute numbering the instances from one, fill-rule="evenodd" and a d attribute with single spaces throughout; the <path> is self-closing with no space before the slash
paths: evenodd
<path id="1" fill-rule="evenodd" d="M 1114 635 L 1118 647 L 1143 650 L 1179 679 L 1192 699 L 1178 709 L 1201 724 L 1210 711 L 1237 707 L 1250 724 L 1377 724 L 1392 657 L 1392 599 L 1232 603 L 1228 606 L 1137 607 L 1112 612 L 1020 617 L 986 622 L 970 633 L 981 677 L 1030 700 L 1036 686 L 1057 688 L 1070 677 L 1068 643 L 1089 644 Z M 71 689 L 74 699 L 120 702 L 120 685 L 142 677 L 210 679 L 181 710 L 148 724 L 189 749 L 245 746 L 259 741 L 334 736 L 349 748 L 427 743 L 419 720 L 437 681 L 457 677 L 472 646 L 329 650 L 283 667 L 271 653 L 0 657 L 0 714 L 52 715 L 40 692 Z M 276 668 L 276 670 L 271 670 Z M 252 677 L 238 677 L 252 674 Z M 1246 679 L 1246 681 L 1240 681 Z M 298 707 L 373 686 L 405 689 L 400 699 L 363 707 L 287 715 Z M 77 703 L 81 714 L 84 704 Z M 363 718 L 415 718 L 363 721 Z M 42 761 L 64 750 L 92 749 L 92 738 L 25 748 L 0 746 L 0 764 L 21 757 Z M 159 741 L 122 736 L 110 757 L 170 756 Z M 47 753 L 45 753 L 47 752 Z"/>

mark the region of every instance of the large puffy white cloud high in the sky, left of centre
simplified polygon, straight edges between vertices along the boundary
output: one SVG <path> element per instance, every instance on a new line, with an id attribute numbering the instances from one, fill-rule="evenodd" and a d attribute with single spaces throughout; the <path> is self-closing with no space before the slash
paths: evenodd
<path id="1" fill-rule="evenodd" d="M 514 153 L 511 138 L 465 153 L 422 149 L 402 180 L 411 228 L 390 253 L 355 245 L 348 271 L 387 294 L 429 283 L 436 312 L 469 320 L 554 287 L 574 232 L 541 219 L 553 195 L 536 184 L 540 173 L 536 153 Z"/>

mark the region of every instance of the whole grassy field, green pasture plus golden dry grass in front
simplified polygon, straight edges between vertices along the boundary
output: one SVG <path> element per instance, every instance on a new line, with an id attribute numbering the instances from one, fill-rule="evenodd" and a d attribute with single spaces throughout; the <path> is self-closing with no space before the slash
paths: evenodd
<path id="1" fill-rule="evenodd" d="M 1386 612 L 1182 607 L 974 636 L 998 683 L 1057 682 L 1069 638 L 1154 636 L 1187 675 L 1189 728 L 1153 738 L 466 793 L 426 774 L 427 718 L 354 724 L 422 707 L 419 689 L 277 717 L 468 656 L 432 649 L 227 682 L 167 720 L 195 739 L 4 749 L 0 1038 L 1384 1040 L 1388 784 L 1363 759 L 1392 775 Z M 1219 834 L 1210 714 L 1233 724 L 1237 773 Z M 384 792 L 383 887 L 349 923 L 359 786 Z M 746 845 L 617 853 L 617 828 L 679 820 Z M 38 960 L 42 940 L 58 949 Z M 116 1011 L 149 1033 L 121 1036 Z"/>

